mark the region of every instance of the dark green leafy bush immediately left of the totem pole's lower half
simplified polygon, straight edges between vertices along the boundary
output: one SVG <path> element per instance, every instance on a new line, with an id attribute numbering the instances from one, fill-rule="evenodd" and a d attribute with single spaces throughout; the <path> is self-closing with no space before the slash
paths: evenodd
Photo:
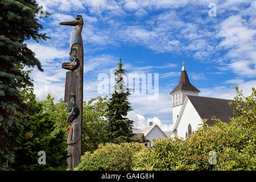
<path id="1" fill-rule="evenodd" d="M 15 152 L 15 170 L 65 170 L 67 169 L 67 127 L 58 126 L 54 98 L 48 95 L 46 101 L 35 102 L 35 114 L 27 115 L 23 133 L 19 133 L 16 142 L 21 147 Z M 61 102 L 60 102 L 61 103 Z M 52 109 L 55 112 L 52 111 Z M 61 109 L 62 110 L 62 109 Z M 67 114 L 66 114 L 67 115 Z M 39 165 L 39 151 L 46 152 L 46 164 Z"/>

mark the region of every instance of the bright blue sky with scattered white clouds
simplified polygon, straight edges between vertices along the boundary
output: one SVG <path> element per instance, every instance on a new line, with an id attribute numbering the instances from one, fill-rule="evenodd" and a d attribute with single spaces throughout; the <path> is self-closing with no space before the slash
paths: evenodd
<path id="1" fill-rule="evenodd" d="M 256 1 L 172 1 L 172 0 L 46 0 L 38 1 L 51 13 L 42 17 L 41 32 L 52 39 L 28 47 L 41 61 L 36 68 L 35 93 L 45 100 L 51 93 L 64 96 L 65 72 L 61 64 L 69 59 L 69 36 L 73 27 L 59 23 L 84 18 L 84 100 L 104 96 L 97 92 L 98 76 L 116 68 L 119 57 L 127 73 L 158 73 L 159 96 L 130 96 L 134 127 L 148 121 L 163 130 L 172 129 L 171 96 L 179 81 L 183 61 L 191 83 L 200 96 L 232 99 L 239 86 L 246 95 L 256 86 Z M 217 16 L 209 16 L 216 3 Z"/>

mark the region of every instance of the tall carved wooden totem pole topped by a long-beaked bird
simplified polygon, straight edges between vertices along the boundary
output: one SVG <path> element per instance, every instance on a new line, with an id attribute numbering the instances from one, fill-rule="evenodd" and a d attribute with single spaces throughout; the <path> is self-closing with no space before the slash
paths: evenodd
<path id="1" fill-rule="evenodd" d="M 69 62 L 63 63 L 66 73 L 64 102 L 68 102 L 68 171 L 73 171 L 80 163 L 82 148 L 82 91 L 84 78 L 84 49 L 82 46 L 82 26 L 84 20 L 81 15 L 71 22 L 61 22 L 61 25 L 75 26 L 71 32 L 69 43 Z"/>

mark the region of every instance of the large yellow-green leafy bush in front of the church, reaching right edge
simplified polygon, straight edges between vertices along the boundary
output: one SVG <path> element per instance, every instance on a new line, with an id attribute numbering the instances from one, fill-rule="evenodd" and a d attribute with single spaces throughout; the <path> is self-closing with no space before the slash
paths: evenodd
<path id="1" fill-rule="evenodd" d="M 154 146 L 143 148 L 133 160 L 134 170 L 255 170 L 255 96 L 243 97 L 236 88 L 234 114 L 230 123 L 212 118 L 189 138 L 156 139 Z M 210 151 L 217 164 L 209 164 Z"/>

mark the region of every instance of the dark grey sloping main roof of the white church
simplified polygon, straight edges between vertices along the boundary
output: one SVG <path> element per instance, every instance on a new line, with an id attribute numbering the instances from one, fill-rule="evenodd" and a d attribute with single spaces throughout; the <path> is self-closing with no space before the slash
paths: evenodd
<path id="1" fill-rule="evenodd" d="M 234 102 L 233 100 L 199 96 L 187 97 L 200 117 L 202 119 L 208 119 L 208 125 L 214 125 L 215 122 L 210 119 L 213 116 L 220 119 L 222 122 L 230 122 L 229 117 L 234 117 L 233 108 L 228 104 L 230 101 Z"/>

